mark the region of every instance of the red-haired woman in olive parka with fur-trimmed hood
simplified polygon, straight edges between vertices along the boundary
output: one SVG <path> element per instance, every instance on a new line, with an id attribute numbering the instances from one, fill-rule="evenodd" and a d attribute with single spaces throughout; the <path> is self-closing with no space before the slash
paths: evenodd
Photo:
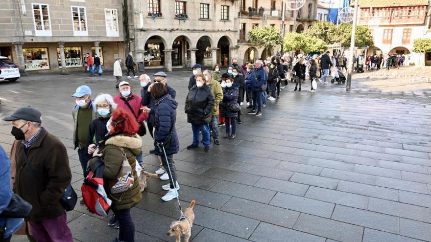
<path id="1" fill-rule="evenodd" d="M 130 209 L 142 200 L 141 188 L 135 171 L 135 166 L 138 165 L 135 157 L 141 153 L 142 147 L 142 138 L 137 134 L 139 124 L 132 114 L 119 108 L 112 113 L 106 128 L 108 134 L 104 141 L 99 142 L 99 148 L 93 154 L 90 167 L 98 160 L 103 160 L 105 164 L 103 171 L 105 191 L 112 199 L 111 208 L 115 219 L 120 224 L 119 235 L 114 242 L 134 242 L 135 224 L 130 216 Z M 111 187 L 121 176 L 119 173 L 124 157 L 130 164 L 134 182 L 127 191 L 112 194 Z"/>

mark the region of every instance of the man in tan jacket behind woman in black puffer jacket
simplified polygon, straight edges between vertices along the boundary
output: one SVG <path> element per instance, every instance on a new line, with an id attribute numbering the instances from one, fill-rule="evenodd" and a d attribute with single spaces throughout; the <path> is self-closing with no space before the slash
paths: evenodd
<path id="1" fill-rule="evenodd" d="M 205 83 L 211 88 L 211 92 L 214 96 L 214 106 L 211 111 L 211 123 L 210 123 L 210 134 L 213 136 L 214 144 L 219 145 L 220 140 L 218 139 L 218 114 L 219 104 L 223 100 L 223 90 L 221 85 L 212 79 L 212 73 L 210 70 L 204 70 Z M 211 136 L 211 135 L 210 135 Z"/>

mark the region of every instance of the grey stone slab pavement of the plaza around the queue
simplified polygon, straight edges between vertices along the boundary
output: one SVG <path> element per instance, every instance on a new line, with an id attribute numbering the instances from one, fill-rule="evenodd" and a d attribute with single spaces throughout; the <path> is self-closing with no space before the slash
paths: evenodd
<path id="1" fill-rule="evenodd" d="M 150 72 L 153 73 L 153 72 Z M 309 92 L 282 90 L 263 115 L 245 114 L 235 140 L 221 139 L 210 153 L 186 150 L 192 130 L 184 113 L 191 71 L 169 73 L 177 91 L 176 128 L 180 152 L 174 155 L 183 207 L 196 199 L 192 242 L 431 242 L 431 104 L 428 94 L 386 95 L 353 81 L 351 94 L 328 85 Z M 133 91 L 140 88 L 130 80 Z M 362 80 L 363 81 L 363 80 Z M 372 82 L 368 79 L 366 82 Z M 111 75 L 88 77 L 34 74 L 0 83 L 0 116 L 24 105 L 39 108 L 43 126 L 67 147 L 73 187 L 79 194 L 82 171 L 72 147 L 70 96 L 79 85 L 116 94 Z M 427 92 L 428 91 L 428 92 Z M 0 145 L 10 149 L 11 125 L 0 121 Z M 224 135 L 220 128 L 220 136 Z M 144 137 L 145 168 L 157 157 Z M 143 201 L 132 209 L 137 242 L 173 242 L 171 221 L 179 218 L 175 200 L 163 202 L 158 179 L 148 178 Z M 68 213 L 80 242 L 111 242 L 118 230 L 107 218 L 77 204 Z M 16 237 L 13 241 L 25 241 Z"/>

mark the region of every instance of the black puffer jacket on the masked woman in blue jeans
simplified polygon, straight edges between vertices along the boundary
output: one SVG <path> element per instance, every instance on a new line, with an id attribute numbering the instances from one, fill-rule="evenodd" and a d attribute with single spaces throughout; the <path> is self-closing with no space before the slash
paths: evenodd
<path id="1" fill-rule="evenodd" d="M 214 96 L 211 88 L 207 85 L 197 88 L 194 85 L 187 94 L 184 107 L 184 111 L 187 113 L 187 122 L 193 125 L 209 124 L 213 106 Z"/>

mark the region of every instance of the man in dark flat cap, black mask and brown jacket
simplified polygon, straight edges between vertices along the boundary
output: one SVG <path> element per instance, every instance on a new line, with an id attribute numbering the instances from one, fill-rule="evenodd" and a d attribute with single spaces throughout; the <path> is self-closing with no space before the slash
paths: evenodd
<path id="1" fill-rule="evenodd" d="M 12 121 L 16 147 L 15 191 L 33 208 L 27 218 L 36 241 L 73 242 L 66 212 L 60 203 L 72 173 L 66 147 L 41 127 L 40 111 L 24 107 L 3 118 Z"/>

